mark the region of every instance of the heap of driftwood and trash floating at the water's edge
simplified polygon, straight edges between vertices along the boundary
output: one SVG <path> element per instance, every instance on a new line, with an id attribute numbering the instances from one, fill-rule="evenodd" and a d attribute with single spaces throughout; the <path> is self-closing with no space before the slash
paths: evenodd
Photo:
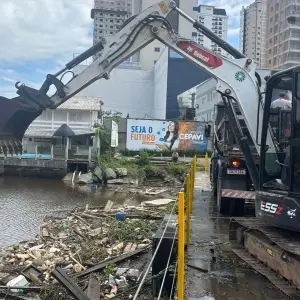
<path id="1" fill-rule="evenodd" d="M 158 199 L 114 208 L 108 201 L 104 209 L 47 217 L 35 240 L 1 250 L 0 291 L 15 299 L 128 298 L 151 257 L 152 235 L 173 204 Z"/>

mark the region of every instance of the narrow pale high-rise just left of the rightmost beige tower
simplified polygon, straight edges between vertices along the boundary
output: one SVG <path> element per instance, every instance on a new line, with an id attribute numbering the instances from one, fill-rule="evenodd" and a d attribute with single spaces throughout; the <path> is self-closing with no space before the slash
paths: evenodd
<path id="1" fill-rule="evenodd" d="M 240 51 L 257 66 L 266 67 L 267 0 L 243 7 L 240 18 Z"/>

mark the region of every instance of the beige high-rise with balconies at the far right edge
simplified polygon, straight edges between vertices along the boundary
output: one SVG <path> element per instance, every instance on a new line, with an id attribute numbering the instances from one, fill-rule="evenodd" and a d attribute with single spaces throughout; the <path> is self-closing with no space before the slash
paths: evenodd
<path id="1" fill-rule="evenodd" d="M 267 0 L 267 67 L 287 69 L 300 63 L 300 3 Z"/>

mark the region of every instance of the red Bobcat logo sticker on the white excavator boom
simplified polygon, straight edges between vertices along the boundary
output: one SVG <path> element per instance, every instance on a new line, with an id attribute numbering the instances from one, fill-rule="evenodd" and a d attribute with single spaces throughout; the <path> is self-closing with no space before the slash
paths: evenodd
<path id="1" fill-rule="evenodd" d="M 197 47 L 197 45 L 191 42 L 180 41 L 177 43 L 177 47 L 211 69 L 220 67 L 223 64 L 223 61 L 220 57 Z"/>

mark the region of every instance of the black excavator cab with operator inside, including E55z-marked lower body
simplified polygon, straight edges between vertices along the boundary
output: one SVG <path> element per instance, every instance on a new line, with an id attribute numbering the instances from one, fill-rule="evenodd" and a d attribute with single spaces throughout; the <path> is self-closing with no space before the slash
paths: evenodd
<path id="1" fill-rule="evenodd" d="M 290 107 L 284 101 L 272 105 L 282 91 L 290 96 Z M 266 142 L 268 131 L 275 150 Z M 267 82 L 260 149 L 257 217 L 300 231 L 300 67 L 278 72 Z"/>

